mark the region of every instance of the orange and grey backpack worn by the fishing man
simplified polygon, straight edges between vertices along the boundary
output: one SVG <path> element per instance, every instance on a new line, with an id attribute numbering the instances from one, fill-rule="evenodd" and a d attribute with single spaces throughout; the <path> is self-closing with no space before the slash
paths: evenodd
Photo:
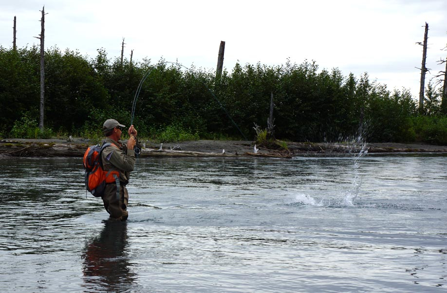
<path id="1" fill-rule="evenodd" d="M 90 146 L 84 153 L 83 164 L 85 169 L 85 187 L 93 196 L 102 197 L 106 183 L 116 183 L 119 192 L 119 172 L 104 171 L 102 165 L 102 151 L 111 146 L 111 143 Z"/>

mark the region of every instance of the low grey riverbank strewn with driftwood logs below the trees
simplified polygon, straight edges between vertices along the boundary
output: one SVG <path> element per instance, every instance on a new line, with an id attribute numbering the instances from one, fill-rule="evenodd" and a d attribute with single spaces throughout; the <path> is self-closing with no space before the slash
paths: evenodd
<path id="1" fill-rule="evenodd" d="M 82 139 L 1 139 L 0 156 L 66 156 L 81 157 L 96 142 Z M 361 145 L 348 143 L 287 142 L 288 151 L 278 152 L 259 148 L 254 153 L 254 142 L 249 140 L 196 140 L 180 143 L 155 144 L 143 141 L 140 157 L 176 156 L 268 156 L 292 157 L 304 154 L 345 154 L 360 151 Z M 447 153 L 447 146 L 405 143 L 368 143 L 369 153 Z"/>

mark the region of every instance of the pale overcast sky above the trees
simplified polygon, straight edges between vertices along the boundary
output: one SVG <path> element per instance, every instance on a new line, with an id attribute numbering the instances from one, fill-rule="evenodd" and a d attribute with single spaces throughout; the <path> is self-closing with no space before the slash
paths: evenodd
<path id="1" fill-rule="evenodd" d="M 178 61 L 215 70 L 220 41 L 224 67 L 236 62 L 266 65 L 315 60 L 320 69 L 370 80 L 388 89 L 419 93 L 424 25 L 427 67 L 437 75 L 447 51 L 447 0 L 1 0 L 0 45 L 12 47 L 17 17 L 18 47 L 38 44 L 45 5 L 45 48 L 78 50 L 94 58 L 104 48 L 156 63 Z"/>

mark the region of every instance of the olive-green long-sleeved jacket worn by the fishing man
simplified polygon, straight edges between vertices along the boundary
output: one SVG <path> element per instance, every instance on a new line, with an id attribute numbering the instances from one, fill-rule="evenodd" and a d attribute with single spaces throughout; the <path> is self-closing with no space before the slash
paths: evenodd
<path id="1" fill-rule="evenodd" d="M 102 151 L 102 164 L 104 171 L 119 171 L 119 181 L 126 185 L 129 183 L 130 172 L 135 166 L 135 151 L 128 150 L 126 144 L 106 138 L 105 143 L 111 143 Z"/>

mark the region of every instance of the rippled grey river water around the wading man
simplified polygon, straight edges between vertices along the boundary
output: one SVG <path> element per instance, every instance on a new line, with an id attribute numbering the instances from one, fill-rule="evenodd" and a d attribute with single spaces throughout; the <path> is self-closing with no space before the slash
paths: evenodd
<path id="1" fill-rule="evenodd" d="M 0 292 L 446 292 L 447 156 L 0 158 Z"/>

